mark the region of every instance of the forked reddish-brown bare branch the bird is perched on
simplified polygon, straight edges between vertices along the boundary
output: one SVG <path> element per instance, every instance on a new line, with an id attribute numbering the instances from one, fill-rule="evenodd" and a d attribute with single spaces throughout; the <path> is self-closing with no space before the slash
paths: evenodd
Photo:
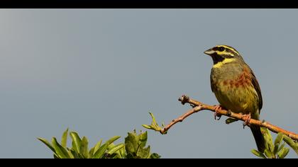
<path id="1" fill-rule="evenodd" d="M 167 125 L 167 126 L 163 127 L 162 129 L 160 129 L 160 133 L 165 134 L 167 132 L 167 130 L 170 129 L 170 127 L 175 125 L 177 122 L 182 122 L 186 117 L 188 117 L 189 115 L 192 115 L 193 113 L 197 113 L 201 110 L 210 110 L 212 112 L 215 112 L 215 106 L 206 105 L 206 104 L 201 103 L 197 100 L 190 99 L 188 96 L 181 96 L 179 98 L 179 100 L 181 101 L 182 105 L 184 105 L 185 103 L 189 103 L 190 105 L 192 105 L 193 109 L 187 111 L 187 113 L 184 113 L 184 115 L 181 115 L 177 119 L 172 120 L 172 122 L 169 125 Z M 233 117 L 233 118 L 236 118 L 237 120 L 242 120 L 243 122 L 245 122 L 245 120 L 246 120 L 245 115 L 232 113 L 231 111 L 228 111 L 228 110 L 221 109 L 221 110 L 217 110 L 217 112 L 220 115 L 225 115 L 227 117 Z M 269 122 L 250 119 L 250 121 L 248 122 L 248 125 L 258 125 L 260 127 L 267 127 L 267 129 L 269 129 L 272 132 L 275 132 L 275 133 L 282 132 L 283 134 L 287 135 L 291 139 L 294 139 L 294 140 L 298 141 L 298 134 L 295 134 L 293 132 L 289 132 L 285 129 L 282 129 L 280 127 L 272 125 Z"/>

